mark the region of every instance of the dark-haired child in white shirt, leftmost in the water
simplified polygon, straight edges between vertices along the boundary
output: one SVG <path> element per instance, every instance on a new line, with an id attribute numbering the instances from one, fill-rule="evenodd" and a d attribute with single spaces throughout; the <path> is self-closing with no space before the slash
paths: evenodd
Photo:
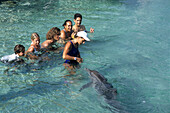
<path id="1" fill-rule="evenodd" d="M 6 55 L 1 58 L 3 63 L 19 62 L 21 59 L 19 57 L 25 55 L 25 47 L 21 44 L 18 44 L 14 47 L 14 53 L 12 55 Z"/>

